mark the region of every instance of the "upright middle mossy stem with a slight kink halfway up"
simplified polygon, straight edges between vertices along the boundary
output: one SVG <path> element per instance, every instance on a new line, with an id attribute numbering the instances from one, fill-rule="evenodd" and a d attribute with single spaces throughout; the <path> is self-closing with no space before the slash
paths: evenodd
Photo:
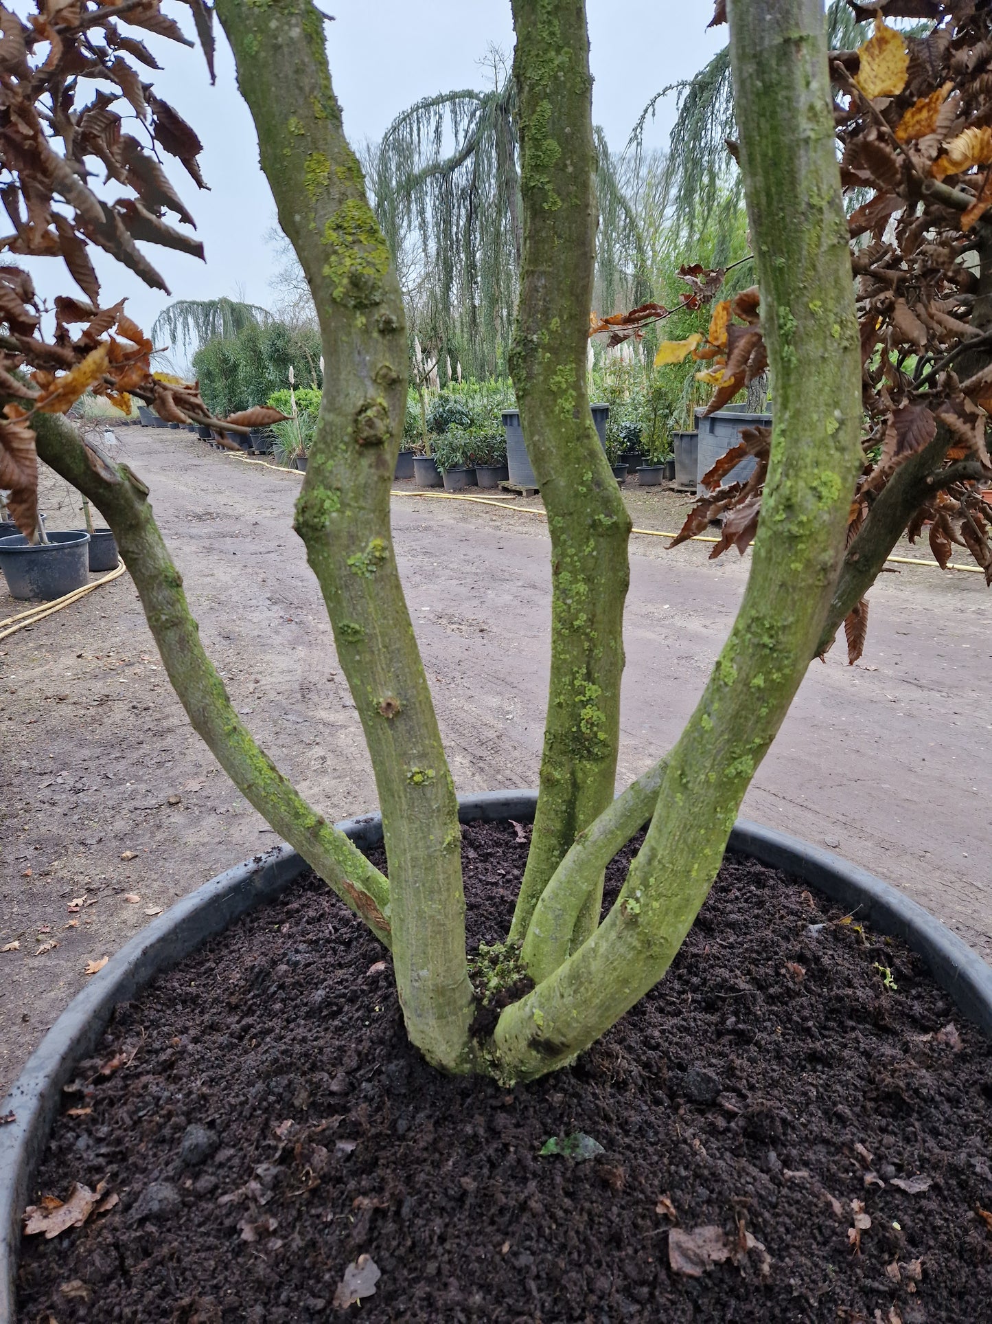
<path id="1" fill-rule="evenodd" d="M 552 673 L 541 784 L 511 937 L 612 800 L 631 520 L 589 412 L 597 204 L 582 0 L 513 0 L 522 261 L 511 372 L 552 538 Z M 591 888 L 578 937 L 599 914 Z"/>

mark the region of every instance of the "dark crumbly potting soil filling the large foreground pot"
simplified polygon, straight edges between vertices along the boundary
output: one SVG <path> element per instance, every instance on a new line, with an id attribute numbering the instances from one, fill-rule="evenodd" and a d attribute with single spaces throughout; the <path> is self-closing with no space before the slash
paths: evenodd
<path id="1" fill-rule="evenodd" d="M 474 944 L 517 838 L 464 833 Z M 667 978 L 513 1091 L 419 1061 L 382 959 L 310 878 L 122 1006 L 34 1190 L 119 1202 L 24 1239 L 21 1319 L 335 1319 L 369 1255 L 365 1324 L 992 1320 L 992 1045 L 901 943 L 727 857 Z"/>

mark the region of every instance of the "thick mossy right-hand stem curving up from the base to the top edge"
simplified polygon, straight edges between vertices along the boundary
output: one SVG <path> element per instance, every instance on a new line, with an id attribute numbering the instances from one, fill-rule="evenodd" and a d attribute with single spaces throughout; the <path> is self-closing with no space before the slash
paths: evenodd
<path id="1" fill-rule="evenodd" d="M 729 0 L 747 213 L 775 396 L 751 575 L 606 922 L 504 1010 L 505 1079 L 585 1049 L 668 969 L 820 638 L 860 469 L 861 364 L 817 0 Z"/>

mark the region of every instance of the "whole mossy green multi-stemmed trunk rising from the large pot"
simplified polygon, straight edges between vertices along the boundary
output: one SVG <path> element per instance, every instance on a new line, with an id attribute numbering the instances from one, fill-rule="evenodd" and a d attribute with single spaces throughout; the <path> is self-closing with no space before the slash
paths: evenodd
<path id="1" fill-rule="evenodd" d="M 238 720 L 140 479 L 61 420 L 38 430 L 42 458 L 118 536 L 197 731 L 389 944 L 410 1038 L 448 1071 L 517 1080 L 553 1070 L 661 978 L 821 634 L 852 605 L 850 585 L 835 588 L 861 459 L 860 355 L 823 11 L 817 0 L 730 0 L 729 9 L 775 391 L 768 483 L 747 592 L 704 695 L 671 753 L 612 800 L 630 520 L 585 385 L 595 236 L 585 4 L 513 0 L 524 209 L 513 373 L 549 514 L 554 587 L 541 792 L 511 935 L 511 955 L 520 948 L 534 988 L 503 1010 L 488 1042 L 470 1037 L 456 801 L 389 523 L 406 399 L 402 302 L 310 0 L 218 0 L 218 13 L 280 224 L 320 316 L 325 388 L 296 530 L 369 745 L 388 880 L 292 790 Z M 603 869 L 647 820 L 644 846 L 599 924 Z"/>

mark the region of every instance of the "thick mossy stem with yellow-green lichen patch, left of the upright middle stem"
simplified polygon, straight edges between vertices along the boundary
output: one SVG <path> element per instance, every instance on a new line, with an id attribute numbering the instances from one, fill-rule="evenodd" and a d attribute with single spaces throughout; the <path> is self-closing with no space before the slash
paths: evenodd
<path id="1" fill-rule="evenodd" d="M 279 222 L 320 319 L 324 392 L 296 507 L 376 773 L 393 964 L 425 1057 L 471 1064 L 458 801 L 393 549 L 406 409 L 399 283 L 341 124 L 308 0 L 220 0 Z"/>

